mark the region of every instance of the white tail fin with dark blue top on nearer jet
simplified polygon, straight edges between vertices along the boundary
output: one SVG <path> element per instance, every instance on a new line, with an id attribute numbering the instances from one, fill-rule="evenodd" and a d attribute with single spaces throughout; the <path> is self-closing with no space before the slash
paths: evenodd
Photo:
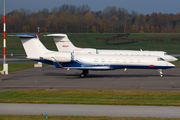
<path id="1" fill-rule="evenodd" d="M 20 37 L 28 58 L 39 58 L 40 55 L 49 52 L 35 34 L 15 34 L 9 36 Z"/>

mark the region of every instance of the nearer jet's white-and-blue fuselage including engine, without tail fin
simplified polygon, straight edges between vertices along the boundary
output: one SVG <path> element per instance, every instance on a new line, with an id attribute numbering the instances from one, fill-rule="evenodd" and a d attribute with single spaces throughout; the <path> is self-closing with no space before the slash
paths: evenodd
<path id="1" fill-rule="evenodd" d="M 166 69 L 174 67 L 157 56 L 128 56 L 106 54 L 71 54 L 70 52 L 49 52 L 41 59 L 61 64 L 60 68 L 75 68 L 89 70 L 141 68 Z"/>

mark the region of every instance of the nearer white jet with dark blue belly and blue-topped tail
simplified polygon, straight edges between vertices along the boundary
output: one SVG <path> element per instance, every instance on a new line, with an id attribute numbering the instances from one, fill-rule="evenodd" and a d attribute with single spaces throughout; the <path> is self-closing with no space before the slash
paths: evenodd
<path id="1" fill-rule="evenodd" d="M 28 59 L 54 65 L 56 68 L 82 70 L 80 77 L 87 76 L 89 70 L 127 68 L 158 69 L 162 77 L 162 69 L 175 67 L 172 63 L 158 56 L 75 54 L 72 51 L 51 51 L 41 43 L 35 34 L 15 34 L 9 36 L 20 37 Z"/>

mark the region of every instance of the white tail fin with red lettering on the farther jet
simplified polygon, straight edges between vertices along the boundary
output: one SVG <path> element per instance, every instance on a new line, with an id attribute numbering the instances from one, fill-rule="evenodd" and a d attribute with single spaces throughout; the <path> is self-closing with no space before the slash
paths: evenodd
<path id="1" fill-rule="evenodd" d="M 73 45 L 66 34 L 48 34 L 48 37 L 53 37 L 58 51 L 73 52 L 75 49 L 79 49 Z"/>

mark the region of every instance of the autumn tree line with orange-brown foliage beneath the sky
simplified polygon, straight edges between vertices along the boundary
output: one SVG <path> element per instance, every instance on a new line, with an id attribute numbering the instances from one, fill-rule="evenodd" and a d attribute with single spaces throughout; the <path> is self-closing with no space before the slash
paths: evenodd
<path id="1" fill-rule="evenodd" d="M 3 16 L 0 24 L 3 32 Z M 94 12 L 88 5 L 64 4 L 51 12 L 46 8 L 38 12 L 19 9 L 6 15 L 9 33 L 37 32 L 37 27 L 40 32 L 52 33 L 179 33 L 180 13 L 143 15 L 115 6 Z"/>

